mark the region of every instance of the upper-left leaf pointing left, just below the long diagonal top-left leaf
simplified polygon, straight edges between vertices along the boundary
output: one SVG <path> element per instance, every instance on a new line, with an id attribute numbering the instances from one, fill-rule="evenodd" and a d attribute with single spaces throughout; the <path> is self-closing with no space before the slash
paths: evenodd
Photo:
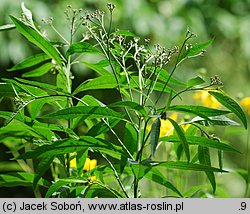
<path id="1" fill-rule="evenodd" d="M 43 63 L 45 61 L 48 61 L 49 59 L 51 59 L 51 57 L 45 53 L 35 54 L 33 56 L 28 57 L 27 59 L 24 59 L 20 63 L 8 69 L 7 71 L 17 71 L 17 70 L 30 68 L 40 63 Z"/>

